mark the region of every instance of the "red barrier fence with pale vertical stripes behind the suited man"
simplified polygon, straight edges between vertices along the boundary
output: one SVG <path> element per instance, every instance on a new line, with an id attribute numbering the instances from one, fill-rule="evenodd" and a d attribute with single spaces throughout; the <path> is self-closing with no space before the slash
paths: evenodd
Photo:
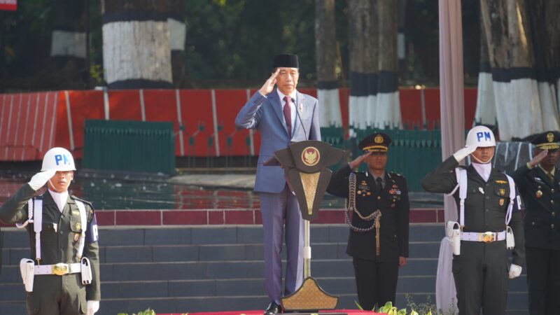
<path id="1" fill-rule="evenodd" d="M 422 92 L 423 91 L 423 92 Z M 177 156 L 256 155 L 258 133 L 237 130 L 235 116 L 255 90 L 99 90 L 0 94 L 0 160 L 41 160 L 52 146 L 81 158 L 86 119 L 174 123 Z M 316 97 L 315 89 L 301 92 Z M 439 89 L 400 90 L 402 122 L 428 127 L 440 119 Z M 423 94 L 423 95 L 422 95 Z M 348 90 L 340 89 L 344 127 Z M 477 90 L 465 89 L 465 126 L 475 115 Z M 183 126 L 181 130 L 181 126 Z"/>

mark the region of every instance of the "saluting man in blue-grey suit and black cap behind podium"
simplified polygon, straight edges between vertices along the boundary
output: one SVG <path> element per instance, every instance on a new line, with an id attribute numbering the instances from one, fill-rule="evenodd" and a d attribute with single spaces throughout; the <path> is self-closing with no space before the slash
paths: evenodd
<path id="1" fill-rule="evenodd" d="M 262 165 L 275 151 L 286 148 L 290 142 L 321 140 L 317 99 L 295 90 L 299 76 L 297 55 L 274 56 L 272 76 L 253 94 L 235 118 L 235 125 L 260 131 L 255 192 L 260 198 L 265 235 L 265 286 L 270 299 L 265 315 L 281 312 L 284 230 L 288 260 L 284 295 L 295 292 L 303 280 L 303 220 L 300 206 L 288 188 L 282 167 Z"/>

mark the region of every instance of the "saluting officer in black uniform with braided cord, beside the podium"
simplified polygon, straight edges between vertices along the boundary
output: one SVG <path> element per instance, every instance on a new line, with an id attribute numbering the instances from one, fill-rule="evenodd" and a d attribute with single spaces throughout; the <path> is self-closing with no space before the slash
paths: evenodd
<path id="1" fill-rule="evenodd" d="M 395 302 L 398 268 L 408 257 L 408 200 L 405 177 L 385 172 L 391 138 L 381 132 L 363 139 L 365 154 L 332 175 L 328 193 L 347 199 L 351 230 L 346 253 L 353 258 L 358 300 L 363 309 Z M 352 169 L 365 162 L 367 171 Z"/>

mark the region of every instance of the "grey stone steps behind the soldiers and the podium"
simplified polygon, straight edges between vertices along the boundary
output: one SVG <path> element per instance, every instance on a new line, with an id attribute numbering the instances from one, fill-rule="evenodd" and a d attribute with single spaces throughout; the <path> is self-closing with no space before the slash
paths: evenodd
<path id="1" fill-rule="evenodd" d="M 25 314 L 19 261 L 29 255 L 25 232 L 3 229 L 0 314 Z M 435 304 L 435 274 L 442 225 L 410 226 L 409 260 L 400 269 L 397 305 L 405 295 Z M 311 274 L 339 307 L 355 309 L 346 225 L 311 228 Z M 262 309 L 267 304 L 262 228 L 254 225 L 176 228 L 101 228 L 102 309 L 98 314 Z M 284 251 L 285 252 L 285 251 Z M 284 262 L 285 263 L 285 262 Z M 507 314 L 526 314 L 526 278 L 510 281 Z"/>

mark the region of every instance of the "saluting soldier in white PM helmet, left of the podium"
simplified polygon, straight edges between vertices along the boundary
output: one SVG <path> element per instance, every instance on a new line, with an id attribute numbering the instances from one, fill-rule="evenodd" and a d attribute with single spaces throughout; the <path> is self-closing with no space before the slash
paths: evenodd
<path id="1" fill-rule="evenodd" d="M 28 314 L 93 315 L 99 309 L 97 222 L 92 204 L 68 193 L 73 171 L 71 153 L 51 148 L 41 172 L 0 208 L 0 221 L 29 234 L 31 253 L 20 262 Z"/>

